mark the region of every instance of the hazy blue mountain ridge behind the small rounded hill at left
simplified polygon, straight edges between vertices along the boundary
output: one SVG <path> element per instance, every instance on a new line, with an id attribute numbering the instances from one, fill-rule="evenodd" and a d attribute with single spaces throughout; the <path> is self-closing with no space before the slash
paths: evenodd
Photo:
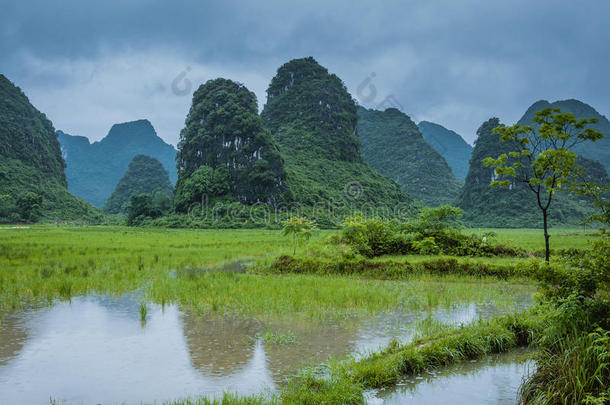
<path id="1" fill-rule="evenodd" d="M 176 182 L 176 149 L 163 141 L 148 120 L 114 124 L 102 140 L 57 131 L 66 161 L 68 189 L 102 207 L 136 155 L 157 159 Z"/>

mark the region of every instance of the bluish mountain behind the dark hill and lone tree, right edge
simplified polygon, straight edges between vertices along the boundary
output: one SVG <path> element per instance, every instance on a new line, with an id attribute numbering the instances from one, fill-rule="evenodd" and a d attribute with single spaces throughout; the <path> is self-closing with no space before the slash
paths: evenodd
<path id="1" fill-rule="evenodd" d="M 532 118 L 537 111 L 544 108 L 556 107 L 560 108 L 561 112 L 570 112 L 574 114 L 576 118 L 597 118 L 599 122 L 592 125 L 598 131 L 604 134 L 604 138 L 597 142 L 585 142 L 582 145 L 578 145 L 574 148 L 575 152 L 581 156 L 589 159 L 597 160 L 601 162 L 605 167 L 606 171 L 610 172 L 610 121 L 604 115 L 600 114 L 587 103 L 583 103 L 580 100 L 568 99 L 559 100 L 553 103 L 547 100 L 539 100 L 532 104 L 525 114 L 518 121 L 521 125 L 532 125 Z"/>

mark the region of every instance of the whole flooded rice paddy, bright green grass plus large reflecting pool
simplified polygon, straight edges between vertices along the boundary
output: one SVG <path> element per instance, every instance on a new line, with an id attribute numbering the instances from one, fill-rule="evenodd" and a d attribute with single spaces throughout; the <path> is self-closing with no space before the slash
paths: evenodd
<path id="1" fill-rule="evenodd" d="M 544 246 L 540 230 L 473 230 L 490 231 L 529 252 Z M 333 232 L 318 231 L 297 256 L 323 252 Z M 558 251 L 584 249 L 597 237 L 574 229 L 551 235 Z M 536 285 L 523 277 L 255 271 L 292 250 L 274 230 L 0 228 L 0 404 L 273 403 L 307 367 L 366 359 L 387 345 L 534 305 Z M 397 395 L 365 398 L 396 403 Z"/>

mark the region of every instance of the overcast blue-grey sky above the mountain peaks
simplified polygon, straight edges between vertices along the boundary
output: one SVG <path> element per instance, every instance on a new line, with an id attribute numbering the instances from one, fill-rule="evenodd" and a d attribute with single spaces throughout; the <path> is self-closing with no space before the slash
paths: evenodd
<path id="1" fill-rule="evenodd" d="M 149 119 L 176 144 L 196 86 L 313 56 L 368 107 L 471 142 L 492 116 L 578 98 L 610 113 L 610 2 L 0 0 L 0 73 L 56 129 L 99 140 Z M 367 81 L 367 79 L 370 79 Z"/>

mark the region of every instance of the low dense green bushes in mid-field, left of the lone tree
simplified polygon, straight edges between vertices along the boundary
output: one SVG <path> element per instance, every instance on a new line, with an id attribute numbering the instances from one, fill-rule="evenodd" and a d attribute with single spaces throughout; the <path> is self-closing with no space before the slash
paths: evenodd
<path id="1" fill-rule="evenodd" d="M 399 223 L 376 217 L 348 218 L 335 240 L 358 254 L 376 257 L 384 254 L 448 254 L 455 256 L 525 256 L 525 251 L 492 243 L 493 234 L 465 234 L 459 227 L 459 208 L 449 205 L 424 208 L 418 218 Z"/>

